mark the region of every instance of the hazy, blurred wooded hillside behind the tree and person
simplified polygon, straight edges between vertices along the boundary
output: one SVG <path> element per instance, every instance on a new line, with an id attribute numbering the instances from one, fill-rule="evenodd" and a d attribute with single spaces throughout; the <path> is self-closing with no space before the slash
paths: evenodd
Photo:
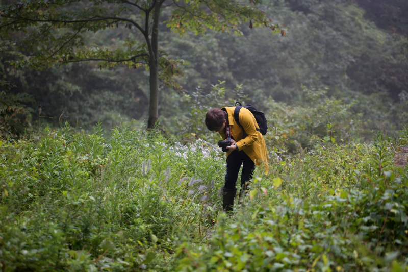
<path id="1" fill-rule="evenodd" d="M 351 126 L 358 129 L 357 139 L 369 139 L 378 129 L 396 135 L 408 120 L 408 22 L 403 1 L 273 0 L 261 9 L 286 26 L 286 36 L 242 26 L 241 37 L 215 32 L 179 37 L 161 25 L 160 47 L 169 57 L 185 61 L 184 76 L 176 80 L 187 92 L 160 87 L 159 126 L 207 139 L 211 136 L 202 126 L 202 112 L 245 100 L 268 112 L 276 126 L 303 118 L 288 129 L 320 135 L 321 128 L 313 128 L 316 123 L 303 115 L 304 111 L 324 115 L 327 109 L 320 112 L 316 104 L 319 95 L 334 107 L 343 107 L 335 109 L 344 124 L 337 133 L 353 133 L 347 131 Z M 18 42 L 21 36 L 14 35 Z M 90 33 L 86 42 L 110 45 L 135 35 L 132 29 L 107 29 Z M 0 77 L 14 84 L 8 94 L 27 93 L 33 98 L 20 102 L 34 109 L 24 113 L 32 114 L 27 117 L 28 129 L 61 120 L 89 129 L 98 120 L 113 128 L 121 121 L 139 125 L 147 119 L 148 71 L 100 70 L 96 63 L 43 70 L 10 66 L 9 61 L 18 58 L 16 51 L 0 57 Z M 220 81 L 224 90 L 215 94 Z M 240 93 L 234 91 L 236 86 Z M 305 95 L 304 89 L 315 98 Z M 304 148 L 308 139 L 296 141 Z"/>

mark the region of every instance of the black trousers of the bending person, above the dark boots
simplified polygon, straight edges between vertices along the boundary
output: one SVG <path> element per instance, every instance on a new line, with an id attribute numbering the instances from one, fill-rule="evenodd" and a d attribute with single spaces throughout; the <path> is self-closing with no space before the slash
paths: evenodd
<path id="1" fill-rule="evenodd" d="M 226 175 L 225 175 L 225 188 L 235 189 L 237 183 L 239 169 L 242 166 L 241 173 L 241 188 L 248 182 L 255 170 L 255 163 L 245 154 L 243 150 L 234 150 L 226 160 Z"/>

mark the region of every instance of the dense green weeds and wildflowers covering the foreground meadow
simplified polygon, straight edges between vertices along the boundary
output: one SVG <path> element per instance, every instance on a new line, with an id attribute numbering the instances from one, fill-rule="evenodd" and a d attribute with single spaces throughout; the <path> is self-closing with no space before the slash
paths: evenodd
<path id="1" fill-rule="evenodd" d="M 275 131 L 279 139 L 283 131 Z M 5 271 L 404 271 L 408 171 L 396 146 L 315 141 L 272 150 L 231 217 L 224 157 L 209 142 L 122 124 L 0 142 Z"/>

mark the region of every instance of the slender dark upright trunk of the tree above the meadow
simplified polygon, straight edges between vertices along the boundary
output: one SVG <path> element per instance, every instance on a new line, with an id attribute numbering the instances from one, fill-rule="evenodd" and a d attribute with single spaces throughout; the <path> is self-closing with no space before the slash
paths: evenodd
<path id="1" fill-rule="evenodd" d="M 150 71 L 150 102 L 149 102 L 149 119 L 147 121 L 147 128 L 155 127 L 159 119 L 159 18 L 161 1 L 157 1 L 154 14 L 153 26 L 151 33 L 151 49 L 149 60 Z"/>

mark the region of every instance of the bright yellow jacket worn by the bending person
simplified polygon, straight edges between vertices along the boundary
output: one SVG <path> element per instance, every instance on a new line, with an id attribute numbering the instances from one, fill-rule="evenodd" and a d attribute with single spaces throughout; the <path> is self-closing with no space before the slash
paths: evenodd
<path id="1" fill-rule="evenodd" d="M 235 139 L 238 146 L 238 150 L 243 150 L 246 155 L 248 155 L 251 160 L 258 166 L 264 164 L 266 172 L 269 170 L 268 165 L 268 151 L 266 150 L 266 144 L 264 136 L 261 132 L 257 131 L 259 129 L 257 120 L 253 114 L 246 108 L 241 108 L 239 112 L 239 122 L 246 132 L 246 137 L 242 139 L 243 131 L 242 128 L 235 122 L 234 110 L 235 107 L 225 107 L 222 110 L 226 110 L 228 113 L 228 122 L 231 126 L 231 136 Z M 222 139 L 226 139 L 225 131 L 218 132 Z M 227 158 L 229 153 L 227 153 Z"/>

